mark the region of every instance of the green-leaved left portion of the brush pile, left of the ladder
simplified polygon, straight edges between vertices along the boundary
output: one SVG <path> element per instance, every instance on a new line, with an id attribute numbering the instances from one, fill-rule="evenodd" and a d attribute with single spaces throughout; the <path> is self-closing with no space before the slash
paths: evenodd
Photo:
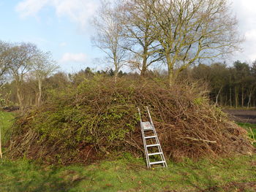
<path id="1" fill-rule="evenodd" d="M 30 130 L 30 137 L 37 138 L 34 146 L 51 148 L 49 152 L 42 147 L 37 158 L 59 163 L 72 161 L 71 158 L 80 161 L 78 157 L 86 147 L 94 147 L 90 153 L 99 150 L 97 155 L 124 147 L 125 137 L 138 125 L 137 109 L 129 97 L 101 81 L 99 75 L 94 80 L 84 80 L 78 88 L 48 92 L 50 103 L 18 119 L 14 135 Z M 124 91 L 132 93 L 132 88 Z M 24 149 L 23 155 L 26 153 L 31 151 Z"/>

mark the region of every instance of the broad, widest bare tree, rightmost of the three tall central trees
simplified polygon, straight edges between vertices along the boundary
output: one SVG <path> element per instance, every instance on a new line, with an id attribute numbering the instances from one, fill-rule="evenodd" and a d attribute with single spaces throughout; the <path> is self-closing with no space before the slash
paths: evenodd
<path id="1" fill-rule="evenodd" d="M 151 10 L 170 85 L 195 61 L 230 54 L 241 42 L 227 0 L 151 0 Z"/>

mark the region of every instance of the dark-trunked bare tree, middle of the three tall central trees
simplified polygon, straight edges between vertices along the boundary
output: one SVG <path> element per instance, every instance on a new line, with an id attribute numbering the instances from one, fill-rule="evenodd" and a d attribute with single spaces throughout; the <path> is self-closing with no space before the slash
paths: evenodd
<path id="1" fill-rule="evenodd" d="M 120 4 L 123 7 L 121 19 L 124 26 L 124 37 L 127 39 L 127 50 L 133 57 L 129 64 L 140 70 L 140 76 L 146 74 L 148 66 L 161 58 L 157 52 L 150 0 L 130 0 Z"/>

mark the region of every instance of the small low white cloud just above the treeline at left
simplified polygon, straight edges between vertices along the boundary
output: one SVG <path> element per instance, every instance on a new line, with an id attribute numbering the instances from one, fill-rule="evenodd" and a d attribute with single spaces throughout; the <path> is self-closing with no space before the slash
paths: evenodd
<path id="1" fill-rule="evenodd" d="M 85 53 L 64 53 L 59 62 L 61 64 L 80 63 L 85 64 L 87 55 Z"/>

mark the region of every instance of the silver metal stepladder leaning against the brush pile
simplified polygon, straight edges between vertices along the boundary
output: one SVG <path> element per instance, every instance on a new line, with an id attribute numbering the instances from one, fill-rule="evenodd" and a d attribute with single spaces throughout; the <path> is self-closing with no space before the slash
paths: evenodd
<path id="1" fill-rule="evenodd" d="M 157 167 L 167 167 L 165 156 L 164 153 L 162 153 L 162 147 L 157 137 L 157 131 L 154 128 L 154 124 L 151 119 L 148 107 L 146 107 L 146 110 L 147 118 L 149 121 L 142 120 L 140 108 L 138 108 L 138 112 L 140 114 L 140 128 L 145 149 L 147 166 L 148 168 L 151 168 L 151 166 L 155 165 L 159 165 Z"/>

